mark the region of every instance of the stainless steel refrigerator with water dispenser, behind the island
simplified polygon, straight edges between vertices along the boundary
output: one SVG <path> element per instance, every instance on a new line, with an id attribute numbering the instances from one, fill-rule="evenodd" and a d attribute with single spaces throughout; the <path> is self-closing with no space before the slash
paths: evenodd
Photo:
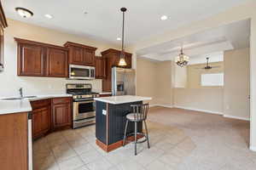
<path id="1" fill-rule="evenodd" d="M 112 68 L 112 95 L 135 95 L 135 70 Z"/>

